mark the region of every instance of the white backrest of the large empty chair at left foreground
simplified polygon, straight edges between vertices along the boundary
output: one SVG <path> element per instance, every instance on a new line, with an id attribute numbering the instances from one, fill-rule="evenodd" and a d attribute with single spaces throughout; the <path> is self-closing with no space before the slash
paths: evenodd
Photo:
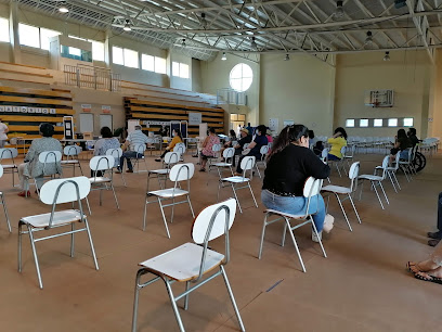
<path id="1" fill-rule="evenodd" d="M 77 187 L 79 196 L 77 196 Z M 48 205 L 70 203 L 84 199 L 90 191 L 91 182 L 87 177 L 55 179 L 41 187 L 40 200 Z"/>

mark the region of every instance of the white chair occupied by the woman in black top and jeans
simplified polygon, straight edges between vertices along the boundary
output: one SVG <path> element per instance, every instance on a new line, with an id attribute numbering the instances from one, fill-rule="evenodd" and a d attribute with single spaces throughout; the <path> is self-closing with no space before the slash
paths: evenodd
<path id="1" fill-rule="evenodd" d="M 327 257 L 327 254 L 325 253 L 324 246 L 322 244 L 322 240 L 321 240 L 320 235 L 317 234 L 316 226 L 313 222 L 312 215 L 314 215 L 315 213 L 309 213 L 311 200 L 313 199 L 313 196 L 320 194 L 322 183 L 323 183 L 323 180 L 321 180 L 321 179 L 315 179 L 313 177 L 310 177 L 310 178 L 307 179 L 304 188 L 303 188 L 303 196 L 306 199 L 308 199 L 308 201 L 307 201 L 307 206 L 306 206 L 306 213 L 303 213 L 301 215 L 289 215 L 289 214 L 282 213 L 280 210 L 275 210 L 275 209 L 266 209 L 264 212 L 265 217 L 264 217 L 264 222 L 262 225 L 261 243 L 259 245 L 258 259 L 261 259 L 261 257 L 262 257 L 262 245 L 263 245 L 263 242 L 264 242 L 265 227 L 268 227 L 269 225 L 272 225 L 272 224 L 274 224 L 276 221 L 280 221 L 280 220 L 285 221 L 281 246 L 284 246 L 284 244 L 285 244 L 285 237 L 286 237 L 286 231 L 287 231 L 287 228 L 288 228 L 291 241 L 294 242 L 295 250 L 296 250 L 296 253 L 298 254 L 299 263 L 301 264 L 301 268 L 302 268 L 303 272 L 307 272 L 307 270 L 306 270 L 306 266 L 303 264 L 302 257 L 301 257 L 301 253 L 299 252 L 298 243 L 295 240 L 294 230 L 296 230 L 296 229 L 298 229 L 298 228 L 300 228 L 300 227 L 302 227 L 304 225 L 311 224 L 312 228 L 313 228 L 313 231 L 316 234 L 316 238 L 317 238 L 318 243 L 321 245 L 321 250 L 323 252 L 323 255 L 324 255 L 324 257 Z M 271 216 L 277 216 L 277 218 L 273 219 L 273 220 L 269 220 L 269 218 Z M 296 225 L 291 226 L 290 220 L 294 220 L 296 222 Z"/>

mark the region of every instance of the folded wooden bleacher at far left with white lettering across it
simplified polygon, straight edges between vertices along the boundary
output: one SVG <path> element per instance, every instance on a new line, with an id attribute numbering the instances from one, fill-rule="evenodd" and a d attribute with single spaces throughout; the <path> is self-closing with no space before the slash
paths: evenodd
<path id="1" fill-rule="evenodd" d="M 10 130 L 9 139 L 39 138 L 41 123 L 52 123 L 55 127 L 54 138 L 62 139 L 63 126 L 56 124 L 63 123 L 63 116 L 75 114 L 68 91 L 14 87 L 0 87 L 0 118 Z M 23 153 L 23 144 L 18 152 Z"/>

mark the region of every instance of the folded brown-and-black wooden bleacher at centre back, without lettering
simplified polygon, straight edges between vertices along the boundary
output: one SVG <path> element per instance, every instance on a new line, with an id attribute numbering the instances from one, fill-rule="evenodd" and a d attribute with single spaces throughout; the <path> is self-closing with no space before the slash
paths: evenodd
<path id="1" fill-rule="evenodd" d="M 216 128 L 217 132 L 224 132 L 224 110 L 208 106 L 187 106 L 178 103 L 177 100 L 158 102 L 142 98 L 125 98 L 126 119 L 139 119 L 152 122 L 188 120 L 188 113 L 202 113 L 203 123 Z M 159 127 L 151 127 L 147 130 L 158 131 Z M 188 137 L 197 137 L 199 126 L 187 126 Z"/>

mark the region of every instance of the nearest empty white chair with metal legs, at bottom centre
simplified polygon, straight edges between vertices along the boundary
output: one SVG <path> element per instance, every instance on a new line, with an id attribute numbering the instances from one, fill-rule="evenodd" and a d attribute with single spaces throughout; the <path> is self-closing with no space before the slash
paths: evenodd
<path id="1" fill-rule="evenodd" d="M 198 214 L 193 224 L 192 238 L 194 243 L 182 244 L 139 264 L 141 268 L 136 272 L 135 279 L 132 332 L 136 331 L 140 290 L 155 281 L 162 280 L 166 284 L 179 329 L 181 332 L 184 332 L 177 302 L 184 297 L 184 310 L 187 310 L 190 293 L 218 276 L 222 276 L 224 279 L 240 330 L 246 331 L 224 269 L 224 266 L 230 260 L 229 230 L 233 225 L 235 210 L 236 204 L 233 199 L 206 207 Z M 218 253 L 208 246 L 209 241 L 221 235 L 225 237 L 224 254 Z M 217 269 L 218 271 L 216 271 Z M 213 273 L 213 271 L 216 272 Z M 141 277 L 148 273 L 154 274 L 154 278 L 141 283 Z M 209 277 L 206 277 L 206 274 L 209 274 Z M 171 284 L 174 282 L 185 282 L 185 292 L 176 296 L 171 288 Z M 191 286 L 191 283 L 194 285 Z"/>

